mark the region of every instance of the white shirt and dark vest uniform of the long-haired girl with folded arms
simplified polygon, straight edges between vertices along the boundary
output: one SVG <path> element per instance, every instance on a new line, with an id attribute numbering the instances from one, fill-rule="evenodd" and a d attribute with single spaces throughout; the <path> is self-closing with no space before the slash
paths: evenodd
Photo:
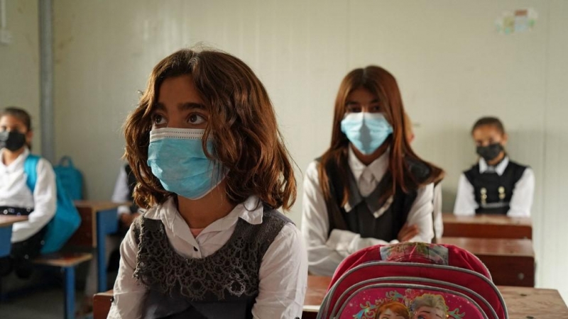
<path id="1" fill-rule="evenodd" d="M 320 163 L 316 160 L 307 167 L 302 202 L 302 234 L 307 245 L 310 273 L 332 276 L 339 263 L 349 254 L 372 245 L 398 242 L 396 238 L 404 223 L 417 225 L 420 230 L 411 241 L 432 241 L 433 184 L 408 194 L 399 188 L 394 196 L 379 203 L 386 182 L 391 178 L 388 157 L 388 152 L 385 152 L 366 166 L 349 148 L 350 194 L 348 203 L 337 207 L 342 216 L 340 220 L 334 220 L 337 218 L 327 208 L 317 172 Z M 333 179 L 332 169 L 328 171 L 328 176 L 330 174 L 330 179 Z M 341 186 L 334 188 L 335 191 L 342 190 Z"/>

